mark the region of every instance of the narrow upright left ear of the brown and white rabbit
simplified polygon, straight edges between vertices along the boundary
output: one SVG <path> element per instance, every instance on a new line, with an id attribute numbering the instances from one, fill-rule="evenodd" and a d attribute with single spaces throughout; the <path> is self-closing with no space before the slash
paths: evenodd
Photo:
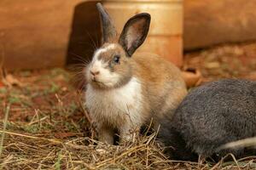
<path id="1" fill-rule="evenodd" d="M 96 7 L 101 15 L 103 42 L 113 42 L 117 36 L 117 31 L 113 26 L 113 21 L 110 19 L 106 10 L 102 7 L 102 3 L 96 3 Z"/>

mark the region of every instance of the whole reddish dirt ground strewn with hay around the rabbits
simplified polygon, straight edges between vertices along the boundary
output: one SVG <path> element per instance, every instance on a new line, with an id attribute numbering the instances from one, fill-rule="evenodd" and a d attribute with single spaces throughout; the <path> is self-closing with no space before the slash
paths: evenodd
<path id="1" fill-rule="evenodd" d="M 201 71 L 201 83 L 256 80 L 256 43 L 186 53 L 184 68 Z M 0 169 L 256 168 L 256 156 L 203 164 L 168 160 L 154 134 L 137 135 L 132 144 L 98 143 L 83 92 L 70 85 L 72 76 L 63 69 L 5 72 L 1 80 Z"/>

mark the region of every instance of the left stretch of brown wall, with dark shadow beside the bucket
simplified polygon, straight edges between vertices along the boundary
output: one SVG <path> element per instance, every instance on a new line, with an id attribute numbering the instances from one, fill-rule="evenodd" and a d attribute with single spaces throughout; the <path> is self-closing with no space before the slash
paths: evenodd
<path id="1" fill-rule="evenodd" d="M 99 37 L 97 14 L 90 11 L 96 11 L 95 3 L 82 0 L 1 0 L 0 57 L 5 68 L 63 66 L 67 49 L 70 62 L 88 53 L 90 38 Z"/>

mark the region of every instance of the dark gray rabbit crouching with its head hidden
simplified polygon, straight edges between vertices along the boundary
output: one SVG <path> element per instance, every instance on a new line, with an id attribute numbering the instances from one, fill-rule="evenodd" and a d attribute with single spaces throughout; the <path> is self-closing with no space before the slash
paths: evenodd
<path id="1" fill-rule="evenodd" d="M 195 88 L 174 115 L 161 122 L 159 138 L 172 159 L 245 156 L 247 148 L 223 144 L 256 136 L 256 82 L 225 79 Z M 169 147 L 170 146 L 170 147 Z"/>

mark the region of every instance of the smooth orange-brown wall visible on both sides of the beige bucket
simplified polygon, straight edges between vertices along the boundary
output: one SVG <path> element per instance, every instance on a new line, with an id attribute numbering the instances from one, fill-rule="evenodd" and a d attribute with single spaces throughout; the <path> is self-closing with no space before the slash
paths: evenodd
<path id="1" fill-rule="evenodd" d="M 100 39 L 95 4 L 86 0 L 0 0 L 4 66 L 34 69 L 90 58 Z M 255 40 L 255 8 L 254 0 L 184 0 L 184 48 Z"/>

